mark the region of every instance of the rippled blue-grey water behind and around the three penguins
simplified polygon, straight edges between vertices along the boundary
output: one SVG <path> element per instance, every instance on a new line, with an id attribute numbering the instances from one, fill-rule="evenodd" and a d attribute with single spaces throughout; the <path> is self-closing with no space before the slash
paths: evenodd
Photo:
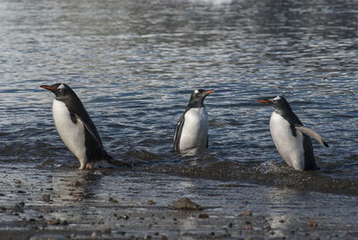
<path id="1" fill-rule="evenodd" d="M 2 163 L 78 167 L 53 124 L 66 82 L 107 151 L 145 171 L 358 193 L 358 6 L 354 1 L 1 1 Z M 192 90 L 206 99 L 209 150 L 172 151 Z M 263 96 L 283 95 L 320 171 L 286 167 Z"/>

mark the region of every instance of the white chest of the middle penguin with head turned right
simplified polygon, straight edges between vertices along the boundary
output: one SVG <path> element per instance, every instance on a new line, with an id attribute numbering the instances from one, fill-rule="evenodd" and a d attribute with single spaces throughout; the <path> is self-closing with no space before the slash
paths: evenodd
<path id="1" fill-rule="evenodd" d="M 208 141 L 209 120 L 205 107 L 191 108 L 185 113 L 180 150 L 205 147 Z"/>

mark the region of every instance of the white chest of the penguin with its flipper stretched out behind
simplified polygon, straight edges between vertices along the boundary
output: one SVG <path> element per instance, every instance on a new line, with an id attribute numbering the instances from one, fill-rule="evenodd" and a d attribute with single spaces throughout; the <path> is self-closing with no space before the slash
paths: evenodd
<path id="1" fill-rule="evenodd" d="M 269 130 L 278 152 L 286 163 L 296 170 L 303 170 L 303 133 L 296 131 L 294 136 L 290 124 L 275 112 L 269 119 Z"/>

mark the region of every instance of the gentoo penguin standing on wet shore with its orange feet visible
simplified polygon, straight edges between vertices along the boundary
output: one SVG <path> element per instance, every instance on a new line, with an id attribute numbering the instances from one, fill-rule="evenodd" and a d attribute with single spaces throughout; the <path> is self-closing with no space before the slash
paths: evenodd
<path id="1" fill-rule="evenodd" d="M 55 93 L 52 106 L 55 127 L 66 147 L 80 161 L 79 169 L 92 168 L 96 161 L 106 160 L 115 166 L 127 164 L 113 159 L 107 154 L 95 124 L 83 107 L 76 93 L 64 83 L 51 86 L 41 85 L 43 89 Z"/>

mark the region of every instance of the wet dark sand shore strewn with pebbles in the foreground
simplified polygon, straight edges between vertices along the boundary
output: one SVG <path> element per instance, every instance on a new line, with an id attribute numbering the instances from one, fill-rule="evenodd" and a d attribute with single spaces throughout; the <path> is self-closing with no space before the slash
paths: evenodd
<path id="1" fill-rule="evenodd" d="M 358 237 L 356 196 L 141 170 L 4 164 L 0 239 Z"/>

